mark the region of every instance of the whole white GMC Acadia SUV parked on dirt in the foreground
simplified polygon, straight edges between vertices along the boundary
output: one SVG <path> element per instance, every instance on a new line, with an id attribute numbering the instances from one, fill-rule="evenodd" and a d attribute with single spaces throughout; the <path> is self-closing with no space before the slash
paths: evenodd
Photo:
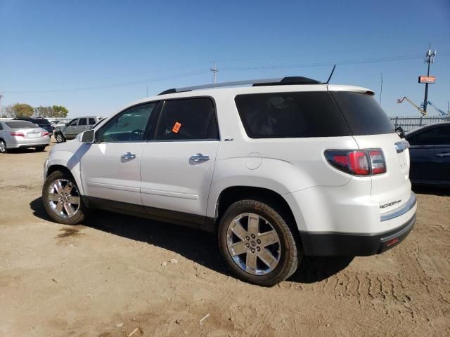
<path id="1" fill-rule="evenodd" d="M 368 256 L 409 234 L 409 143 L 373 91 L 304 77 L 215 87 L 139 100 L 54 146 L 49 216 L 106 209 L 216 232 L 234 274 L 262 286 L 304 255 Z"/>

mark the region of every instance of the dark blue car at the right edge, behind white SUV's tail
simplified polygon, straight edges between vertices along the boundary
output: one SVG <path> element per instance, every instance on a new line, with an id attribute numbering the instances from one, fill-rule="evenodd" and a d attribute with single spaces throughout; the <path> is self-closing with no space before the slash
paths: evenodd
<path id="1" fill-rule="evenodd" d="M 411 183 L 450 187 L 450 122 L 420 128 L 406 140 L 411 145 Z"/>

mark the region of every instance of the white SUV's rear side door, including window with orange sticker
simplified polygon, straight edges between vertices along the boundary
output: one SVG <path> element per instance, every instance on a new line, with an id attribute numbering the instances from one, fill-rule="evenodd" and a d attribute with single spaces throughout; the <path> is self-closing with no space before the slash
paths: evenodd
<path id="1" fill-rule="evenodd" d="M 154 140 L 144 145 L 141 159 L 141 197 L 146 211 L 162 219 L 201 223 L 218 145 L 211 98 L 162 103 Z"/>

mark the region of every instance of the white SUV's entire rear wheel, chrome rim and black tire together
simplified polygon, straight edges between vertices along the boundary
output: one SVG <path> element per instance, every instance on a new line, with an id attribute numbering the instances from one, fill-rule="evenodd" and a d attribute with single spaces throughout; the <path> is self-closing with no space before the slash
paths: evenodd
<path id="1" fill-rule="evenodd" d="M 293 275 L 301 256 L 287 219 L 257 200 L 229 206 L 219 223 L 219 248 L 237 277 L 274 286 Z"/>

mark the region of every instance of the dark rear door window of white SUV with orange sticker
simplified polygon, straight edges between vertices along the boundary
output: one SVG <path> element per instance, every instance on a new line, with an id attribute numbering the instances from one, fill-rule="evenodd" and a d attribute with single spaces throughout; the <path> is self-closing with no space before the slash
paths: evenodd
<path id="1" fill-rule="evenodd" d="M 155 140 L 218 139 L 216 113 L 210 98 L 167 100 Z"/>

